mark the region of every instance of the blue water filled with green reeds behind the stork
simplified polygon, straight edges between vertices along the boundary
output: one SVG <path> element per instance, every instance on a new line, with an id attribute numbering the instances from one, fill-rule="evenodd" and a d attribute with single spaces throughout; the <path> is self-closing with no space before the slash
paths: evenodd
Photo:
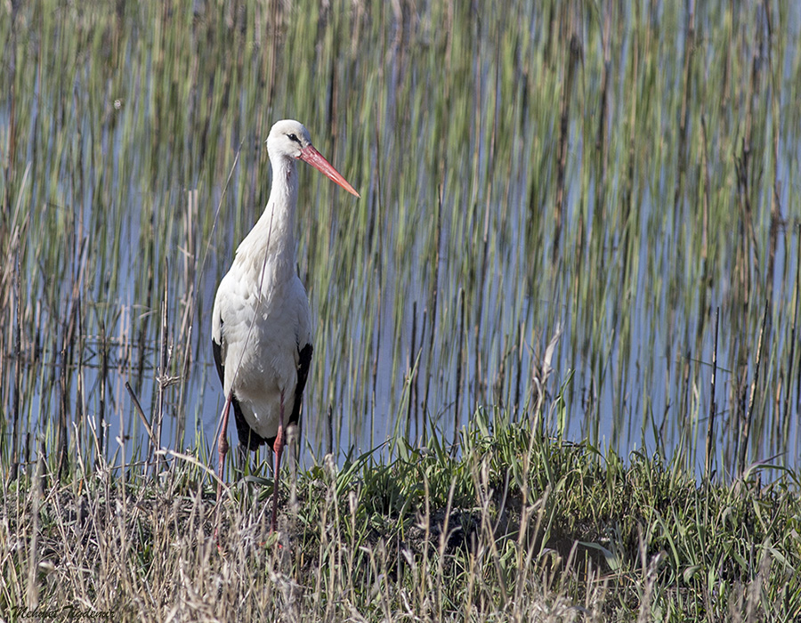
<path id="1" fill-rule="evenodd" d="M 301 166 L 298 262 L 315 326 L 304 463 L 328 451 L 341 460 L 396 431 L 425 443 L 435 427 L 452 440 L 456 423 L 465 425 L 479 406 L 513 409 L 517 396 L 511 417 L 533 417 L 538 390 L 532 379 L 561 327 L 544 386 L 548 430 L 624 455 L 641 448 L 680 452 L 700 470 L 720 309 L 715 465 L 732 473 L 769 300 L 748 460 L 797 466 L 797 18 L 782 33 L 777 101 L 764 90 L 754 99 L 751 158 L 757 165 L 749 182 L 756 190 L 748 195 L 748 214 L 734 165 L 748 109 L 719 93 L 713 99 L 715 88 L 704 85 L 722 79 L 710 59 L 724 53 L 716 15 L 730 9 L 711 7 L 697 18 L 697 28 L 711 34 L 695 57 L 705 79 L 693 83 L 684 169 L 676 119 L 686 18 L 663 8 L 652 18 L 662 28 L 651 30 L 645 18 L 635 23 L 635 15 L 619 16 L 620 28 L 610 35 L 616 53 L 605 175 L 596 148 L 600 26 L 587 17 L 554 257 L 569 42 L 556 43 L 550 53 L 556 55 L 549 55 L 549 13 L 528 7 L 519 21 L 457 11 L 448 33 L 433 27 L 444 19 L 440 9 L 418 10 L 399 23 L 376 5 L 372 20 L 357 22 L 345 5 L 335 4 L 324 21 L 316 9 L 294 7 L 283 15 L 284 36 L 274 52 L 269 37 L 255 44 L 256 25 L 261 36 L 273 31 L 267 17 L 252 12 L 240 16 L 245 28 L 230 28 L 222 18 L 198 21 L 176 11 L 167 18 L 173 30 L 164 26 L 158 36 L 142 24 L 163 16 L 115 21 L 98 11 L 97 23 L 87 26 L 67 15 L 65 23 L 77 20 L 85 28 L 78 41 L 106 32 L 107 43 L 86 43 L 83 53 L 70 43 L 69 26 L 28 18 L 29 30 L 17 32 L 17 71 L 35 78 L 20 78 L 16 114 L 26 138 L 13 186 L 4 182 L 4 190 L 13 187 L 12 198 L 20 197 L 19 212 L 12 204 L 8 214 L 16 216 L 4 223 L 20 226 L 24 242 L 20 442 L 26 431 L 48 430 L 66 409 L 74 423 L 70 435 L 84 440 L 91 454 L 92 425 L 102 411 L 107 453 L 130 458 L 132 440 L 145 437 L 125 382 L 155 419 L 166 297 L 168 372 L 177 381 L 165 390 L 161 443 L 174 449 L 214 444 L 223 405 L 210 344 L 214 291 L 269 193 L 263 138 L 273 121 L 296 117 L 362 193 L 360 201 L 346 197 Z M 315 31 L 316 44 L 308 35 Z M 349 48 L 357 31 L 360 43 Z M 646 35 L 662 38 L 649 39 L 647 47 L 637 38 Z M 746 40 L 737 39 L 735 56 L 751 58 Z M 633 74 L 635 48 L 640 65 Z M 65 53 L 60 81 L 53 71 Z M 735 91 L 743 102 L 749 101 L 748 75 L 729 78 L 741 80 Z M 264 101 L 270 92 L 271 101 Z M 0 104 L 4 137 L 9 101 Z M 781 128 L 775 162 L 774 109 Z M 701 116 L 706 150 L 699 147 Z M 774 172 L 783 222 L 768 298 Z M 16 253 L 10 240 L 4 234 L 9 257 Z M 16 301 L 12 279 L 3 283 L 4 300 Z M 7 419 L 18 386 L 15 304 L 4 303 L 0 372 Z M 82 338 L 64 350 L 70 310 Z M 549 409 L 560 393 L 563 428 Z M 738 408 L 743 395 L 746 407 Z M 7 424 L 6 448 L 10 438 Z M 390 457 L 392 447 L 381 453 Z"/>

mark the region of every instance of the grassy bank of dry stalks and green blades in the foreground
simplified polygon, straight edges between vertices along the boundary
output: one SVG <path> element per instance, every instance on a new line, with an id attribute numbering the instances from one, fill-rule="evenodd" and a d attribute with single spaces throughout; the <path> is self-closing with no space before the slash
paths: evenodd
<path id="1" fill-rule="evenodd" d="M 102 465 L 60 484 L 40 461 L 36 477 L 4 485 L 0 609 L 115 620 L 801 616 L 797 474 L 699 484 L 676 461 L 603 453 L 529 422 L 491 425 L 482 412 L 461 443 L 457 459 L 437 436 L 388 465 L 325 457 L 283 492 L 273 535 L 269 483 L 237 482 L 215 507 L 191 457 L 170 457 L 155 481 Z"/>

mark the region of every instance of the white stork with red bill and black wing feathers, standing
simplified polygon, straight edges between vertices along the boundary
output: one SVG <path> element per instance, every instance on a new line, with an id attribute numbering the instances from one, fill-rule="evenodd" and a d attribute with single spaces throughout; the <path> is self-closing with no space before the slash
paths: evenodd
<path id="1" fill-rule="evenodd" d="M 281 452 L 287 428 L 298 425 L 303 387 L 312 362 L 312 319 L 296 273 L 295 206 L 301 159 L 359 197 L 312 146 L 309 131 L 291 119 L 267 138 L 272 189 L 264 212 L 237 249 L 214 297 L 212 345 L 226 400 L 217 449 L 220 480 L 228 452 L 231 407 L 243 449 L 263 443 L 275 454 L 271 530 L 275 530 Z M 247 450 L 243 451 L 247 456 Z M 217 498 L 221 488 L 217 487 Z"/>

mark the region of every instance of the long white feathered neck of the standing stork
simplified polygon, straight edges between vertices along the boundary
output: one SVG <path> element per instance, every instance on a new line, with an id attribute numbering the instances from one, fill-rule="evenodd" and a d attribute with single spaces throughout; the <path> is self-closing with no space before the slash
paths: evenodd
<path id="1" fill-rule="evenodd" d="M 237 249 L 239 263 L 250 279 L 262 284 L 287 281 L 295 276 L 295 158 L 273 160 L 272 189 L 262 216 Z M 265 270 L 262 279 L 262 270 Z"/>

